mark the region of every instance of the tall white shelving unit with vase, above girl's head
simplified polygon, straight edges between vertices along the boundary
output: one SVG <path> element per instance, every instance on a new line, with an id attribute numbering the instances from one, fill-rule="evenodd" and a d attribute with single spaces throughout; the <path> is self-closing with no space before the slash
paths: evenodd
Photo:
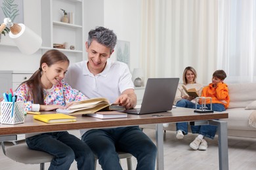
<path id="1" fill-rule="evenodd" d="M 49 10 L 45 13 L 43 11 Z M 74 12 L 73 23 L 61 22 L 63 12 Z M 73 61 L 81 61 L 85 49 L 84 31 L 83 31 L 83 0 L 44 0 L 41 1 L 42 26 L 41 37 L 43 44 L 41 49 L 60 50 L 68 57 L 74 57 Z M 66 44 L 68 48 L 53 48 L 53 44 Z M 74 46 L 74 50 L 70 50 Z"/>

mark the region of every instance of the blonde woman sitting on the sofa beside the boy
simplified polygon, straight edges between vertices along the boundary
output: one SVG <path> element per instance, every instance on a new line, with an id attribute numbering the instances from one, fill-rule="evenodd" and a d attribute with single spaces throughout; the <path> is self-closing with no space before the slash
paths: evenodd
<path id="1" fill-rule="evenodd" d="M 189 96 L 188 93 L 185 92 L 183 86 L 188 89 L 195 88 L 198 96 L 201 95 L 203 90 L 203 85 L 196 82 L 196 70 L 193 67 L 186 67 L 183 71 L 182 80 L 183 83 L 179 84 L 175 96 L 175 105 L 177 107 L 186 107 L 191 108 L 194 106 L 195 97 Z M 176 123 L 177 128 L 177 139 L 183 139 L 184 135 L 188 134 L 188 122 L 179 122 Z"/>

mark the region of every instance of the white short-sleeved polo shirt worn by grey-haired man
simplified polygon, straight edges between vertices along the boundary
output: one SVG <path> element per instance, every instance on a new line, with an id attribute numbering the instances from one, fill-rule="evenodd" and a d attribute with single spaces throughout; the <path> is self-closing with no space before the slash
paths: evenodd
<path id="1" fill-rule="evenodd" d="M 74 63 L 68 68 L 65 81 L 89 98 L 106 97 L 114 103 L 127 89 L 134 89 L 128 66 L 119 61 L 108 59 L 102 73 L 94 76 L 87 67 L 87 61 Z"/>

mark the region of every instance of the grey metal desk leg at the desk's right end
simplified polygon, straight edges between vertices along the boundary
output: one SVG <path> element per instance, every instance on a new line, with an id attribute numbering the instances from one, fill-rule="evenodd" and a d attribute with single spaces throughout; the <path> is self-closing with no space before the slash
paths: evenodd
<path id="1" fill-rule="evenodd" d="M 228 170 L 228 126 L 221 120 L 211 120 L 209 124 L 218 126 L 219 169 Z"/>

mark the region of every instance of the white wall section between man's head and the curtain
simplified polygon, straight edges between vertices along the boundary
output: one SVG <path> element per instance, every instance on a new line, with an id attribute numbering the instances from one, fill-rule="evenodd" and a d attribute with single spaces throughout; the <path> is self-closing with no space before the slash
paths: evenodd
<path id="1" fill-rule="evenodd" d="M 130 42 L 130 69 L 139 67 L 140 1 L 104 1 L 104 26 L 113 29 L 118 40 Z"/>

